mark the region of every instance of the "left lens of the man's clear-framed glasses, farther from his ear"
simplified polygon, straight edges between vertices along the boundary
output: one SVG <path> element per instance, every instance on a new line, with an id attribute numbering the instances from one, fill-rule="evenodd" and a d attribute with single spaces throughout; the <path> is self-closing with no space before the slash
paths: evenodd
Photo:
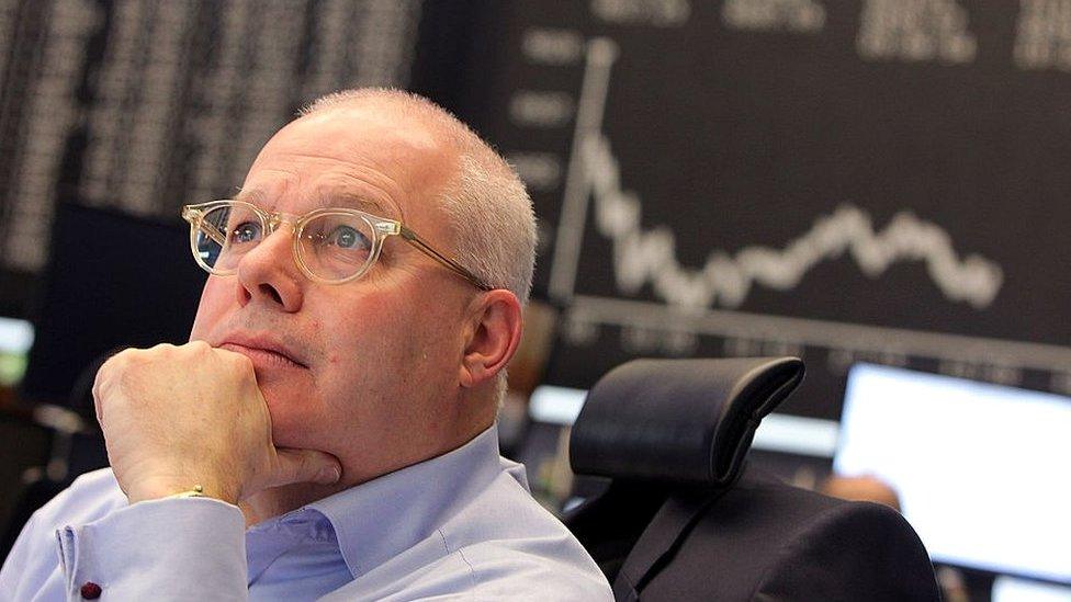
<path id="1" fill-rule="evenodd" d="M 263 238 L 264 225 L 256 212 L 244 205 L 208 209 L 194 235 L 198 257 L 210 270 L 236 270 L 241 255 Z"/>

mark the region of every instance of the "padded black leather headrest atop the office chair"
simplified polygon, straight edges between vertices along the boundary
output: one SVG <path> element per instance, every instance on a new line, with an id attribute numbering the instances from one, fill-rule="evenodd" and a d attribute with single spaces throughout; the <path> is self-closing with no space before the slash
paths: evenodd
<path id="1" fill-rule="evenodd" d="M 588 393 L 570 436 L 573 472 L 722 486 L 763 417 L 803 378 L 798 357 L 635 360 Z"/>

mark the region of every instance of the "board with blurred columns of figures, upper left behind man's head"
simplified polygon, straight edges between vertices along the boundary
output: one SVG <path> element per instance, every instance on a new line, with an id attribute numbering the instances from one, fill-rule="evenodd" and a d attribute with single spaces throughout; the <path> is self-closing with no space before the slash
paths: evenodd
<path id="1" fill-rule="evenodd" d="M 178 219 L 311 100 L 405 86 L 418 0 L 0 0 L 0 275 L 57 201 Z M 9 292 L 0 292 L 0 297 Z"/>

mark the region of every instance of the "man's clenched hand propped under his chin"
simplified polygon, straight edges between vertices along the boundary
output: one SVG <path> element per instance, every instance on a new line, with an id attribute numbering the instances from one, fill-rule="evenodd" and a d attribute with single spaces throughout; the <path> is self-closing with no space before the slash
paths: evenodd
<path id="1" fill-rule="evenodd" d="M 127 349 L 93 384 L 108 457 L 131 503 L 204 488 L 237 503 L 292 482 L 330 485 L 338 459 L 277 448 L 252 363 L 203 341 Z"/>

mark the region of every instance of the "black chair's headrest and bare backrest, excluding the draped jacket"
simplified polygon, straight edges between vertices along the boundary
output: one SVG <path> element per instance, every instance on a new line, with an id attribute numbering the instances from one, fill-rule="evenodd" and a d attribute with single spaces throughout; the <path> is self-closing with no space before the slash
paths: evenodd
<path id="1" fill-rule="evenodd" d="M 797 357 L 747 357 L 635 360 L 599 379 L 570 463 L 611 480 L 564 520 L 611 581 L 670 493 L 732 485 L 763 417 L 802 378 Z"/>

